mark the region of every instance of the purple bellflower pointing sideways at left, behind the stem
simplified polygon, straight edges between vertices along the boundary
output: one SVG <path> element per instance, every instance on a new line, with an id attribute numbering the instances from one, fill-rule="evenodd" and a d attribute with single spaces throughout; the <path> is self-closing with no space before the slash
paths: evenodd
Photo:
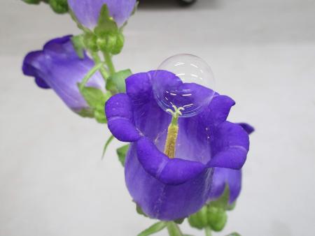
<path id="1" fill-rule="evenodd" d="M 78 90 L 94 62 L 84 54 L 80 59 L 71 43 L 71 36 L 55 38 L 46 43 L 41 51 L 29 52 L 23 61 L 22 71 L 33 76 L 38 87 L 53 89 L 74 112 L 88 111 L 89 106 Z M 87 87 L 104 90 L 105 83 L 99 73 L 87 82 Z"/>

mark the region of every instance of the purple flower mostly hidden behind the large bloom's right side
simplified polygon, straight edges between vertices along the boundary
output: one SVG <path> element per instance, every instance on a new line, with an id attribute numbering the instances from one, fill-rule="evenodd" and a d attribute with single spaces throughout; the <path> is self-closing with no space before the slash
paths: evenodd
<path id="1" fill-rule="evenodd" d="M 253 126 L 246 123 L 239 123 L 249 134 L 253 133 Z M 228 168 L 214 168 L 213 182 L 209 194 L 209 200 L 220 198 L 224 192 L 225 185 L 228 184 L 230 191 L 229 203 L 232 204 L 241 192 L 241 170 Z"/>

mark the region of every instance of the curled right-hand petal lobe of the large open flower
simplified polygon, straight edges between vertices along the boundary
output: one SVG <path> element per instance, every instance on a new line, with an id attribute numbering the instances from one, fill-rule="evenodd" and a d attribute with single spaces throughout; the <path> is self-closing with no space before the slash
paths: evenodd
<path id="1" fill-rule="evenodd" d="M 249 148 L 249 138 L 238 124 L 229 121 L 221 123 L 214 133 L 211 158 L 207 166 L 240 169 L 245 161 Z"/>

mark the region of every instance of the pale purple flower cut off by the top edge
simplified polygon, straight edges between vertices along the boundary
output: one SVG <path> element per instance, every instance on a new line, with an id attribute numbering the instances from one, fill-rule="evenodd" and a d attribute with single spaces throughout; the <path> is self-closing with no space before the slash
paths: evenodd
<path id="1" fill-rule="evenodd" d="M 136 0 L 68 0 L 68 4 L 83 26 L 94 29 L 104 4 L 118 27 L 121 27 L 130 17 Z"/>

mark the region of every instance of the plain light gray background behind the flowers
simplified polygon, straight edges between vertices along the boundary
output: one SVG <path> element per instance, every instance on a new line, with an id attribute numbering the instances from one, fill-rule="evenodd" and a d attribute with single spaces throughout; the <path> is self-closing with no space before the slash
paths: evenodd
<path id="1" fill-rule="evenodd" d="M 218 235 L 314 235 L 315 1 L 200 0 L 185 9 L 151 1 L 130 19 L 116 67 L 136 73 L 197 54 L 218 91 L 237 101 L 230 120 L 256 128 L 241 196 Z M 29 50 L 77 34 L 76 25 L 48 6 L 0 6 L 0 235 L 137 235 L 154 221 L 134 212 L 115 154 L 121 144 L 101 161 L 106 126 L 20 70 Z"/>

